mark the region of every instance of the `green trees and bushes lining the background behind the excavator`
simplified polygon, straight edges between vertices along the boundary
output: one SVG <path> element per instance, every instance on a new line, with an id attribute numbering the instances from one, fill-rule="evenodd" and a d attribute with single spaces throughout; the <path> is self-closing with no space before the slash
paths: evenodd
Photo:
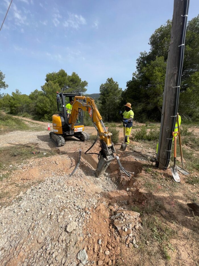
<path id="1" fill-rule="evenodd" d="M 168 48 L 171 39 L 172 21 L 168 20 L 151 35 L 150 51 L 141 52 L 136 60 L 136 72 L 127 81 L 123 91 L 113 78 L 107 78 L 99 88 L 98 109 L 105 121 L 118 121 L 119 110 L 130 102 L 137 121 L 160 121 L 163 103 L 164 82 Z M 179 113 L 181 117 L 193 122 L 199 121 L 199 15 L 188 22 Z M 0 72 L 0 90 L 7 88 Z M 0 99 L 0 108 L 11 114 L 28 113 L 38 119 L 50 120 L 57 112 L 56 92 L 81 93 L 86 95 L 88 82 L 82 81 L 76 73 L 68 75 L 65 70 L 48 73 L 41 90 L 30 95 L 19 90 L 11 95 L 4 94 Z"/>

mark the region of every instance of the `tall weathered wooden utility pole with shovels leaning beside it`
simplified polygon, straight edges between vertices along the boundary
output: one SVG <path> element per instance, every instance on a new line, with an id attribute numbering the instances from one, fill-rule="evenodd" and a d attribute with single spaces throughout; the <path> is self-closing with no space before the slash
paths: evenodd
<path id="1" fill-rule="evenodd" d="M 166 169 L 168 167 L 171 157 L 172 132 L 177 115 L 177 99 L 179 99 L 179 77 L 181 79 L 179 62 L 181 62 L 184 54 L 185 44 L 183 40 L 185 39 L 185 34 L 183 35 L 183 32 L 186 31 L 185 23 L 187 21 L 188 3 L 189 0 L 174 0 L 171 42 L 168 51 L 157 153 L 157 165 L 160 169 Z"/>

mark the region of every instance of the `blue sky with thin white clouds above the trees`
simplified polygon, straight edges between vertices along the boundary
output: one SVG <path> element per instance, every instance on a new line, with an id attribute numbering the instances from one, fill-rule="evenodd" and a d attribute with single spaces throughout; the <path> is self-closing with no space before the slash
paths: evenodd
<path id="1" fill-rule="evenodd" d="M 0 1 L 0 23 L 9 3 Z M 198 10 L 191 0 L 188 20 Z M 86 80 L 87 93 L 110 77 L 124 90 L 151 34 L 172 15 L 173 0 L 13 0 L 0 32 L 3 92 L 29 94 L 61 68 Z"/>

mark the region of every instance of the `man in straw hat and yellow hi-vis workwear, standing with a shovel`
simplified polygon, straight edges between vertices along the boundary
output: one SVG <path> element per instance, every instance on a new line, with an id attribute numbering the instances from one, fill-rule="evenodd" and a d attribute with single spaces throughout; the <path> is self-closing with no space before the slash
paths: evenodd
<path id="1" fill-rule="evenodd" d="M 134 112 L 132 111 L 130 103 L 127 103 L 124 106 L 125 106 L 124 113 L 122 114 L 122 111 L 119 111 L 119 114 L 121 115 L 121 117 L 123 117 L 123 125 L 124 123 L 127 124 L 126 131 L 125 131 L 125 126 L 124 126 L 124 133 L 125 133 L 125 143 L 128 145 L 130 142 L 129 136 L 130 136 L 130 131 L 133 125 Z"/>

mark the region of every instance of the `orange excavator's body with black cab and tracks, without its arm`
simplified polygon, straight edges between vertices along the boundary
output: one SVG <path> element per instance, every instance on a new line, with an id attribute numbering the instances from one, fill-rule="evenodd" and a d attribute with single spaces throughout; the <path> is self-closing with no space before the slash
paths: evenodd
<path id="1" fill-rule="evenodd" d="M 67 116 L 67 103 L 74 100 L 75 96 L 81 96 L 81 94 L 67 94 L 67 93 L 57 93 L 57 114 L 52 116 L 53 132 L 50 132 L 50 139 L 58 146 L 65 145 L 65 139 L 67 137 L 74 136 L 82 141 L 87 141 L 89 139 L 89 134 L 84 132 L 84 119 L 83 111 L 79 109 L 76 123 L 73 129 L 69 125 L 69 117 Z"/>

